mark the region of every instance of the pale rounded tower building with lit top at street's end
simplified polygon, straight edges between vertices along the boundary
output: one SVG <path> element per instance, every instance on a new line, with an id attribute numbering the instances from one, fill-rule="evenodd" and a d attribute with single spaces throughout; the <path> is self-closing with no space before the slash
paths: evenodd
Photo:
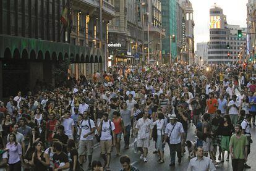
<path id="1" fill-rule="evenodd" d="M 228 25 L 223 9 L 210 9 L 210 42 L 208 44 L 208 64 L 230 64 L 245 57 L 246 37 L 237 37 L 238 25 Z"/>

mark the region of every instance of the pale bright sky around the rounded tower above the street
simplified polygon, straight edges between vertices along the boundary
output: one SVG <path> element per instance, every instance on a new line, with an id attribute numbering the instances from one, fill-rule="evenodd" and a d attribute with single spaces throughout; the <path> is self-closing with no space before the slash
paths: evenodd
<path id="1" fill-rule="evenodd" d="M 216 3 L 227 16 L 228 24 L 246 27 L 248 0 L 190 0 L 194 10 L 195 49 L 197 43 L 209 41 L 210 8 Z"/>

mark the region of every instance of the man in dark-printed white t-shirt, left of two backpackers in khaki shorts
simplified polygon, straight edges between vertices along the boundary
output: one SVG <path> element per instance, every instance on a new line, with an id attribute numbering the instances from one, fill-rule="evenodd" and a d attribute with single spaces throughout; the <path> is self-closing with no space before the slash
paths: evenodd
<path id="1" fill-rule="evenodd" d="M 88 168 L 91 168 L 93 154 L 93 133 L 95 132 L 95 123 L 89 119 L 88 112 L 83 112 L 83 119 L 80 121 L 80 141 L 79 141 L 79 163 L 83 164 L 86 155 L 88 156 Z"/>

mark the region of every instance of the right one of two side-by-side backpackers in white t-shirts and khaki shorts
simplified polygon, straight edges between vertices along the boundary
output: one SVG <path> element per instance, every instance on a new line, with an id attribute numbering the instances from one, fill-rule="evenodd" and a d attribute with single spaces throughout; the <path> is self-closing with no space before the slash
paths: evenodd
<path id="1" fill-rule="evenodd" d="M 111 160 L 112 146 L 115 146 L 114 123 L 108 119 L 108 113 L 104 113 L 98 125 L 98 133 L 100 135 L 101 157 L 103 157 L 106 170 L 110 170 L 109 164 Z"/>

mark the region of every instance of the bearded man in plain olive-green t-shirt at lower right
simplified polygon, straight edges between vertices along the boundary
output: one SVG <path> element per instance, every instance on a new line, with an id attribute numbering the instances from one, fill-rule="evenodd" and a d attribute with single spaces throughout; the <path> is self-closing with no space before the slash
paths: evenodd
<path id="1" fill-rule="evenodd" d="M 236 125 L 235 133 L 230 138 L 229 152 L 232 157 L 232 167 L 234 171 L 244 170 L 244 163 L 247 161 L 247 137 L 242 134 L 241 125 Z"/>

